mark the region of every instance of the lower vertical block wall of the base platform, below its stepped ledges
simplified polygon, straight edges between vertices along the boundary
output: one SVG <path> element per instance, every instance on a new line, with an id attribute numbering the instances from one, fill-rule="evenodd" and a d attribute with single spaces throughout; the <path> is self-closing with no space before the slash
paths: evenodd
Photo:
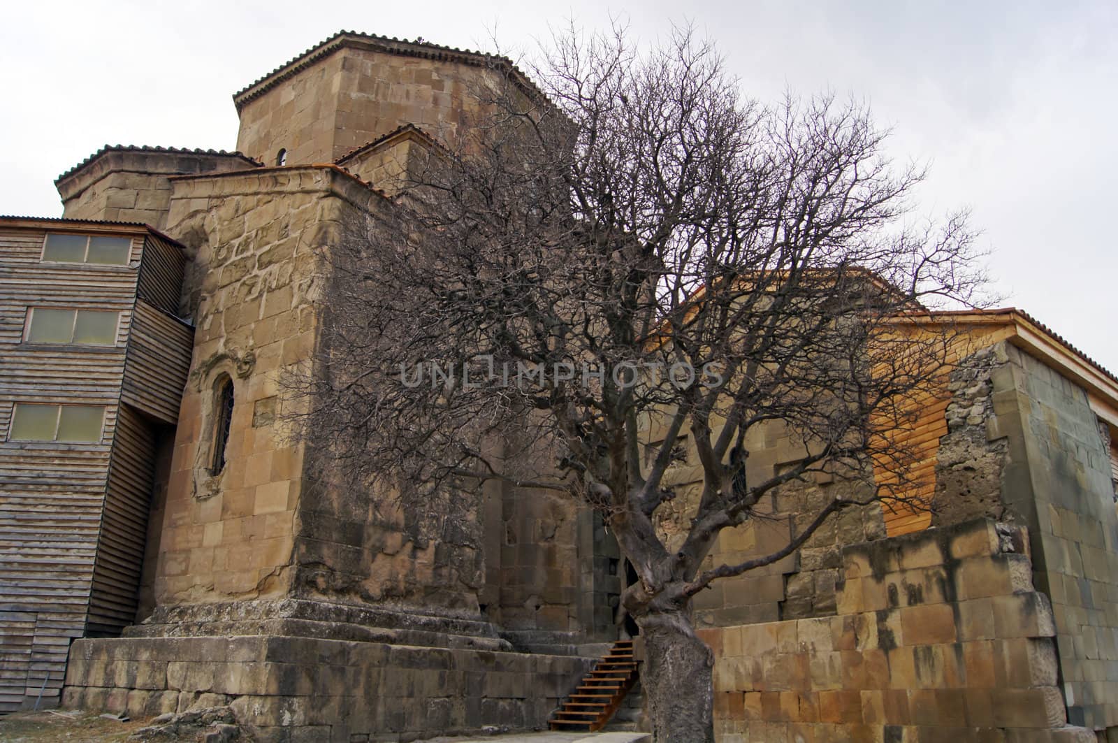
<path id="1" fill-rule="evenodd" d="M 411 741 L 544 727 L 593 659 L 296 637 L 77 640 L 66 707 L 214 706 L 264 743 Z"/>

